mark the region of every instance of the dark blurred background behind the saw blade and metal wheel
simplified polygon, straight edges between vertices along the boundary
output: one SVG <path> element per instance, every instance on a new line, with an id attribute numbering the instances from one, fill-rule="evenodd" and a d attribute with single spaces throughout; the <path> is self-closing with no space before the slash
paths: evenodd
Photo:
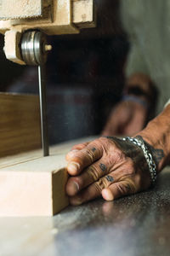
<path id="1" fill-rule="evenodd" d="M 121 99 L 129 45 L 119 1 L 96 0 L 97 27 L 49 37 L 48 125 L 50 143 L 99 134 Z M 1 91 L 38 93 L 37 67 L 5 59 L 0 37 Z"/>

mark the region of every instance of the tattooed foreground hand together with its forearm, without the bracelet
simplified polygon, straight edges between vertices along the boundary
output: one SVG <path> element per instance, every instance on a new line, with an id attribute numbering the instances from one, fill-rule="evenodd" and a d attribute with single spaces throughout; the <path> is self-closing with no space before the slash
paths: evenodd
<path id="1" fill-rule="evenodd" d="M 170 104 L 136 136 L 142 137 L 157 173 L 170 163 Z M 141 148 L 116 137 L 100 137 L 82 143 L 67 154 L 71 175 L 66 192 L 72 205 L 80 205 L 100 195 L 112 201 L 150 187 L 150 172 Z"/>

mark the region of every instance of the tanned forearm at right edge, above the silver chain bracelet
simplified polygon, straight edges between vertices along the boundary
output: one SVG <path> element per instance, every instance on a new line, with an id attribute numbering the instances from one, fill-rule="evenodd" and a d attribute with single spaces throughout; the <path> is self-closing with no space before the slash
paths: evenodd
<path id="1" fill-rule="evenodd" d="M 143 137 L 144 141 L 149 143 L 157 172 L 161 172 L 170 162 L 170 104 L 136 136 Z"/>

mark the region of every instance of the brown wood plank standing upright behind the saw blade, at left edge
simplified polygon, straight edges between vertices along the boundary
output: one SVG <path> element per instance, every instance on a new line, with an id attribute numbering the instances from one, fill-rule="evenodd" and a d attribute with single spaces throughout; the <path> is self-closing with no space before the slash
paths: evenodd
<path id="1" fill-rule="evenodd" d="M 0 157 L 41 147 L 38 96 L 0 93 Z"/>

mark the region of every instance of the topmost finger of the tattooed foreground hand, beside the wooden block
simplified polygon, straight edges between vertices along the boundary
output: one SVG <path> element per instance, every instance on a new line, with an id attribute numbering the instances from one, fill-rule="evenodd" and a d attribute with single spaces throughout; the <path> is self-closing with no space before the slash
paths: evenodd
<path id="1" fill-rule="evenodd" d="M 67 165 L 67 171 L 70 175 L 76 176 L 82 170 L 93 164 L 94 161 L 99 160 L 103 155 L 102 143 L 96 140 L 93 143 L 89 143 L 87 147 L 76 152 L 70 152 L 66 155 L 66 160 L 69 161 Z"/>

